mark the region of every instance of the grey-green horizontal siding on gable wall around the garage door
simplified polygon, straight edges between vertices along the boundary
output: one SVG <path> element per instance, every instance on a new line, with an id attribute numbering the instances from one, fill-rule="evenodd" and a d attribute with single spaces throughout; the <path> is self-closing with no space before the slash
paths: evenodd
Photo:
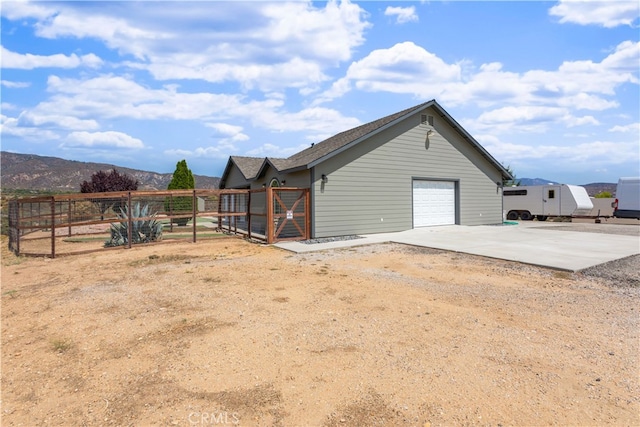
<path id="1" fill-rule="evenodd" d="M 412 180 L 457 181 L 456 218 L 463 225 L 502 222 L 500 171 L 435 112 L 435 133 L 420 114 L 315 166 L 313 236 L 382 233 L 413 227 Z M 328 182 L 322 184 L 322 174 Z"/>

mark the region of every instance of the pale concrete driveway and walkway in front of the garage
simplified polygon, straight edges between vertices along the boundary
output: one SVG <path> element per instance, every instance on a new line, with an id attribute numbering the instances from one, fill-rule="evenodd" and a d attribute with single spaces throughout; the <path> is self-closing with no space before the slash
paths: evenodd
<path id="1" fill-rule="evenodd" d="M 491 258 L 518 261 L 560 270 L 578 271 L 640 254 L 640 226 L 626 234 L 609 234 L 607 224 L 593 224 L 596 232 L 570 231 L 571 223 L 521 222 L 518 225 L 424 227 L 398 233 L 364 235 L 360 239 L 275 246 L 294 252 L 344 248 L 373 243 L 403 243 Z M 619 226 L 618 226 L 619 227 Z M 616 230 L 617 232 L 619 230 Z"/>

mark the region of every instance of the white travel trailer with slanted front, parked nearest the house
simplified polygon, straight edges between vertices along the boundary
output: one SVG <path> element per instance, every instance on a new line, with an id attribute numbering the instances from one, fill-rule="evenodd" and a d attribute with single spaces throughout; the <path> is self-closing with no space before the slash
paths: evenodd
<path id="1" fill-rule="evenodd" d="M 568 184 L 505 187 L 502 206 L 507 219 L 546 221 L 555 216 L 588 215 L 593 203 L 584 187 Z"/>

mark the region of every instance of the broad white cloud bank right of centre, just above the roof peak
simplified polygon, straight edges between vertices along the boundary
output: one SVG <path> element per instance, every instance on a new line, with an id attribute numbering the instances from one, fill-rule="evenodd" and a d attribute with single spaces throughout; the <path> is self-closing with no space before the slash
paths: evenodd
<path id="1" fill-rule="evenodd" d="M 477 129 L 495 132 L 543 132 L 550 125 L 598 125 L 579 110 L 604 111 L 620 106 L 616 91 L 623 84 L 638 84 L 640 43 L 625 41 L 601 62 L 565 61 L 556 70 L 524 73 L 486 63 L 477 69 L 469 63 L 447 64 L 412 42 L 371 52 L 354 62 L 345 77 L 318 95 L 313 105 L 331 101 L 353 90 L 436 98 L 447 106 L 479 106 L 486 110 Z M 500 106 L 491 110 L 492 107 Z"/>

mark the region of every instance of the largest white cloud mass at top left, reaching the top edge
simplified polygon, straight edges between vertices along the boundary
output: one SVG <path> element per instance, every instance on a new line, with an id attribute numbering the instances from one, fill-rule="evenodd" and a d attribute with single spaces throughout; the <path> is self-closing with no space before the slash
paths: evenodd
<path id="1" fill-rule="evenodd" d="M 36 18 L 40 37 L 102 40 L 127 65 L 156 79 L 237 81 L 264 91 L 309 90 L 324 70 L 351 59 L 370 27 L 348 0 L 311 2 L 180 2 L 42 4 L 12 7 L 12 19 Z M 185 40 L 189 40 L 185 43 Z M 60 58 L 61 61 L 63 58 Z"/>

